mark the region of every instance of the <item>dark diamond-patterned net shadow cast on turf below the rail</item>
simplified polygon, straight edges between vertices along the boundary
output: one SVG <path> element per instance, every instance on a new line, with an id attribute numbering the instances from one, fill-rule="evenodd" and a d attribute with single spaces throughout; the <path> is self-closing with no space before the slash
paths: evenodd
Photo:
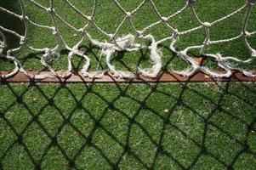
<path id="1" fill-rule="evenodd" d="M 117 89 L 119 91 L 119 94 L 113 99 L 111 99 L 111 101 L 110 99 L 106 99 L 105 95 L 100 94 L 97 91 L 94 91 L 94 86 L 97 86 L 95 83 L 83 84 L 83 86 L 86 88 L 86 91 L 82 94 L 82 97 L 80 99 L 77 99 L 76 94 L 74 94 L 71 88 L 65 84 L 61 84 L 58 88 L 55 88 L 54 94 L 52 94 L 51 97 L 48 97 L 48 94 L 45 94 L 42 87 L 38 84 L 30 84 L 29 87 L 26 88 L 26 90 L 24 90 L 21 94 L 17 94 L 15 92 L 15 89 L 12 84 L 5 84 L 3 86 L 6 86 L 9 92 L 11 92 L 14 95 L 15 100 L 14 100 L 14 103 L 9 105 L 5 111 L 2 111 L 0 120 L 2 120 L 3 122 L 6 122 L 8 127 L 11 129 L 12 133 L 14 133 L 15 139 L 14 141 L 12 141 L 11 144 L 9 144 L 9 146 L 5 146 L 5 145 L 2 146 L 2 147 L 7 147 L 7 149 L 3 151 L 3 153 L 1 153 L 0 155 L 0 169 L 5 169 L 4 162 L 6 161 L 5 160 L 6 156 L 9 154 L 9 152 L 12 152 L 12 149 L 14 148 L 15 144 L 20 144 L 20 146 L 23 147 L 23 149 L 26 151 L 26 154 L 29 157 L 29 160 L 32 162 L 32 165 L 35 169 L 43 168 L 42 167 L 43 161 L 45 161 L 46 159 L 51 159 L 50 157 L 48 157 L 48 152 L 52 148 L 57 148 L 58 150 L 60 150 L 61 155 L 64 156 L 65 161 L 67 162 L 67 164 L 65 165 L 67 168 L 82 169 L 77 164 L 81 164 L 83 162 L 79 162 L 77 161 L 77 159 L 79 158 L 79 156 L 82 155 L 83 150 L 85 150 L 88 147 L 96 150 L 97 153 L 99 154 L 98 156 L 100 156 L 98 158 L 104 159 L 105 162 L 107 162 L 108 167 L 111 167 L 112 169 L 120 168 L 120 164 L 122 163 L 126 155 L 132 156 L 134 160 L 141 167 L 144 167 L 145 169 L 157 169 L 158 168 L 157 166 L 159 166 L 157 164 L 157 161 L 161 156 L 167 157 L 169 161 L 174 162 L 175 166 L 179 167 L 180 169 L 191 169 L 193 167 L 198 166 L 197 164 L 199 163 L 200 159 L 202 159 L 202 157 L 204 156 L 210 157 L 222 167 L 232 169 L 234 168 L 234 166 L 236 165 L 236 162 L 239 160 L 239 158 L 243 154 L 248 154 L 256 158 L 255 151 L 252 150 L 249 144 L 247 143 L 249 136 L 252 134 L 252 132 L 255 131 L 255 127 L 253 126 L 256 122 L 256 116 L 254 116 L 249 122 L 246 122 L 241 117 L 234 115 L 232 112 L 226 111 L 222 106 L 223 100 L 226 95 L 231 95 L 241 100 L 242 102 L 246 102 L 248 105 L 251 105 L 254 111 L 256 106 L 250 100 L 244 99 L 239 94 L 230 93 L 229 92 L 230 83 L 231 82 L 225 83 L 225 86 L 214 85 L 214 86 L 219 86 L 219 88 L 221 89 L 219 99 L 217 100 L 210 99 L 206 94 L 203 94 L 202 92 L 200 92 L 200 90 L 191 88 L 189 83 L 183 83 L 181 85 L 182 88 L 180 89 L 179 94 L 177 96 L 175 96 L 172 93 L 168 93 L 161 89 L 158 89 L 158 86 L 160 86 L 159 84 L 144 84 L 145 86 L 149 87 L 150 92 L 145 94 L 145 97 L 143 99 L 139 100 L 139 99 L 136 99 L 136 97 L 129 95 L 128 93 L 128 89 L 131 86 L 133 86 L 132 84 L 128 84 L 123 88 L 122 84 L 116 83 L 115 85 L 112 85 L 112 88 Z M 253 88 L 250 88 L 246 84 L 242 84 L 241 86 L 247 88 L 253 94 L 256 94 L 255 90 Z M 27 105 L 26 101 L 24 100 L 24 96 L 31 90 L 31 88 L 36 88 L 37 92 L 39 92 L 39 96 L 47 100 L 47 103 L 43 105 L 42 108 L 36 113 L 31 110 L 30 105 Z M 63 89 L 65 89 L 65 91 L 68 92 L 67 98 L 73 99 L 76 103 L 73 106 L 73 108 L 69 111 L 68 116 L 65 116 L 65 112 L 62 111 L 62 109 L 60 108 L 60 106 L 58 106 L 58 104 L 56 104 L 56 101 L 54 99 L 60 93 L 60 90 L 63 90 Z M 185 94 L 188 91 L 191 91 L 197 96 L 200 96 L 202 99 L 207 100 L 209 103 L 213 104 L 213 108 L 211 109 L 211 111 L 208 112 L 208 116 L 202 116 L 202 113 L 196 111 L 195 108 L 193 108 L 191 105 L 188 105 L 184 101 Z M 105 109 L 101 111 L 100 117 L 96 117 L 94 112 L 89 111 L 87 107 L 83 106 L 84 99 L 87 98 L 88 94 L 94 94 L 98 99 L 102 100 L 105 103 Z M 147 100 L 151 98 L 152 95 L 155 95 L 155 94 L 162 94 L 164 96 L 167 96 L 168 99 L 174 99 L 175 101 L 174 105 L 168 108 L 168 113 L 166 113 L 166 116 L 162 116 L 162 114 L 160 114 L 158 111 L 155 111 L 155 108 L 151 108 L 149 105 L 147 105 Z M 139 105 L 139 107 L 134 112 L 133 116 L 128 116 L 128 114 L 125 111 L 122 111 L 122 109 L 117 107 L 115 103 L 121 98 L 131 99 L 136 104 Z M 8 111 L 12 110 L 13 106 L 16 105 L 17 103 L 20 105 L 23 105 L 23 107 L 31 116 L 31 120 L 27 122 L 26 127 L 24 127 L 21 132 L 18 132 L 15 126 L 13 125 L 13 123 L 9 121 L 9 118 L 5 116 L 5 114 Z M 58 114 L 63 119 L 63 122 L 60 124 L 59 127 L 57 127 L 56 133 L 54 135 L 48 132 L 48 128 L 45 127 L 43 122 L 39 119 L 39 117 L 43 114 L 44 109 L 48 106 L 54 107 L 54 110 L 57 111 Z M 181 106 L 182 108 L 186 108 L 188 111 L 191 111 L 191 114 L 193 117 L 199 117 L 199 119 L 202 120 L 203 131 L 202 131 L 200 142 L 198 142 L 190 133 L 187 133 L 182 126 L 172 121 L 173 118 L 175 118 L 173 117 L 175 114 L 175 111 L 179 111 L 181 109 Z M 99 107 L 99 105 L 95 105 L 95 107 Z M 81 127 L 71 121 L 72 116 L 75 114 L 77 110 L 81 110 L 84 114 L 90 117 L 92 122 L 94 122 L 94 127 L 91 128 L 89 133 L 82 132 Z M 143 123 L 138 121 L 137 118 L 139 115 L 141 115 L 142 110 L 147 111 L 149 113 L 151 112 L 153 113 L 153 115 L 161 119 L 162 126 L 161 126 L 160 132 L 157 134 L 159 135 L 158 140 L 154 139 L 153 135 L 151 134 L 152 132 L 150 131 L 150 129 L 148 129 L 148 127 L 145 127 Z M 115 133 L 112 133 L 109 130 L 109 128 L 106 127 L 104 123 L 102 123 L 103 119 L 105 119 L 105 117 L 108 115 L 108 111 L 115 111 L 117 112 L 117 114 L 120 114 L 121 116 L 125 117 L 125 119 L 127 120 L 128 130 L 126 133 L 125 142 L 120 141 L 117 135 Z M 241 140 L 236 138 L 236 135 L 233 135 L 232 133 L 227 131 L 225 127 L 222 126 L 222 122 L 216 123 L 212 120 L 213 116 L 215 116 L 219 111 L 224 115 L 232 117 L 238 122 L 242 122 L 243 126 L 246 126 L 244 139 Z M 15 113 L 15 114 L 19 114 L 19 113 Z M 31 153 L 31 149 L 29 149 L 29 144 L 26 144 L 26 140 L 25 140 L 25 133 L 31 128 L 32 123 L 37 123 L 38 127 L 40 127 L 43 133 L 47 135 L 47 138 L 50 141 L 45 146 L 43 152 L 40 152 L 39 159 L 35 159 L 35 157 Z M 84 122 L 84 123 L 88 123 L 88 122 Z M 112 122 L 112 123 L 115 123 L 115 122 Z M 77 132 L 78 134 L 77 138 L 81 138 L 84 141 L 82 144 L 79 145 L 79 148 L 74 154 L 74 156 L 69 156 L 69 154 L 67 153 L 67 150 L 65 150 L 65 145 L 61 144 L 61 142 L 59 141 L 60 133 L 63 131 L 63 128 L 65 128 L 66 126 L 71 127 L 75 132 Z M 131 135 L 136 135 L 136 134 L 132 134 L 133 133 L 132 128 L 134 126 L 139 127 L 139 129 L 144 133 L 145 138 L 149 139 L 149 143 L 153 144 L 155 147 L 155 150 L 153 150 L 154 156 L 151 159 L 150 163 L 147 162 L 150 160 L 150 158 L 149 160 L 143 158 L 143 156 L 138 154 L 136 147 L 134 150 L 133 144 L 130 144 Z M 191 160 L 189 160 L 189 163 L 184 163 L 184 160 L 182 160 L 180 156 L 177 156 L 177 153 L 175 153 L 178 151 L 182 152 L 185 150 L 182 150 L 182 149 L 168 150 L 168 145 L 170 143 L 168 145 L 164 144 L 166 142 L 166 139 L 165 139 L 166 133 L 170 131 L 168 127 L 171 127 L 172 129 L 174 129 L 177 132 L 177 135 L 179 133 L 182 136 L 182 139 L 190 141 L 190 143 L 194 147 L 196 147 L 196 150 L 198 150 L 198 152 L 191 157 Z M 215 129 L 217 129 L 219 133 L 225 134 L 225 136 L 228 139 L 233 141 L 233 144 L 239 145 L 240 149 L 236 150 L 236 153 L 230 156 L 231 157 L 230 161 L 224 161 L 225 158 L 223 158 L 222 156 L 219 156 L 219 153 L 215 153 L 214 150 L 212 150 L 211 146 L 208 146 L 208 144 L 206 144 L 208 143 L 208 135 L 209 135 L 208 133 L 211 133 L 211 130 L 209 129 L 211 127 L 214 127 Z M 118 154 L 116 159 L 113 159 L 110 156 L 108 156 L 107 154 L 108 151 L 105 150 L 104 148 L 101 148 L 100 144 L 97 144 L 97 139 L 96 140 L 94 139 L 95 133 L 99 129 L 103 131 L 108 138 L 115 141 L 117 145 L 114 145 L 112 147 L 119 146 L 121 148 L 119 150 L 120 153 Z M 31 138 L 33 137 L 31 136 Z M 218 140 L 219 139 L 216 139 L 216 141 Z M 172 143 L 175 144 L 175 139 L 169 142 L 171 142 L 171 144 Z M 106 140 L 105 143 L 108 143 L 108 141 Z M 189 150 L 189 148 L 187 149 Z"/>

